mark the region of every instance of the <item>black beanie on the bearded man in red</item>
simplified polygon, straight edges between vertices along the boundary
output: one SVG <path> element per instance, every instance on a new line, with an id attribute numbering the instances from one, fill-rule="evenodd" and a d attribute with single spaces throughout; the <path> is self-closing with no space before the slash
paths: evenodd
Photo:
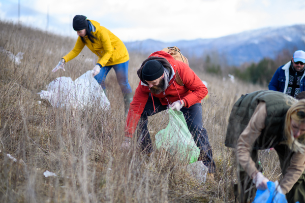
<path id="1" fill-rule="evenodd" d="M 164 67 L 158 60 L 147 61 L 142 69 L 142 77 L 146 81 L 153 81 L 164 74 Z"/>

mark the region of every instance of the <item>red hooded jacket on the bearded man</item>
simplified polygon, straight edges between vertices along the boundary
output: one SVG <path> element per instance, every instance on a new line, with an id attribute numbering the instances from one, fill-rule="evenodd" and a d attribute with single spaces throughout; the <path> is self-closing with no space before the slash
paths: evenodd
<path id="1" fill-rule="evenodd" d="M 162 62 L 163 66 L 171 69 L 169 76 L 169 86 L 166 88 L 166 90 L 160 94 L 152 94 L 153 97 L 158 97 L 160 99 L 162 105 L 172 104 L 174 101 L 179 100 L 180 96 L 180 98 L 185 102 L 185 107 L 188 108 L 196 103 L 200 103 L 201 100 L 206 96 L 207 88 L 186 63 L 175 60 L 165 51 L 157 51 L 150 54 L 149 57 L 152 57 L 153 59 L 160 57 L 160 59 L 157 60 Z M 149 60 L 149 57 L 144 62 Z M 130 138 L 132 138 L 132 135 L 135 132 L 141 114 L 146 105 L 148 95 L 150 93 L 148 85 L 146 81 L 142 79 L 141 75 L 144 62 L 138 71 L 138 75 L 141 81 L 136 89 L 132 103 L 130 104 L 128 116 L 126 119 L 125 136 Z M 176 83 L 176 71 L 178 71 L 184 86 L 180 86 Z"/>

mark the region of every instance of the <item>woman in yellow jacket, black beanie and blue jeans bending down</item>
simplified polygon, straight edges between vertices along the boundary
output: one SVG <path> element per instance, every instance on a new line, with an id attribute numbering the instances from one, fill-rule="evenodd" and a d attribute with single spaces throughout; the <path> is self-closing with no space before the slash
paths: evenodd
<path id="1" fill-rule="evenodd" d="M 76 15 L 73 18 L 73 29 L 77 31 L 77 41 L 72 51 L 64 56 L 53 69 L 64 69 L 65 62 L 75 58 L 86 45 L 98 56 L 98 61 L 93 69 L 93 76 L 105 91 L 105 79 L 113 67 L 117 81 L 124 94 L 125 113 L 128 112 L 132 101 L 132 90 L 128 83 L 129 54 L 124 43 L 111 31 L 94 20 L 86 20 L 85 16 Z M 106 93 L 106 91 L 105 91 Z"/>

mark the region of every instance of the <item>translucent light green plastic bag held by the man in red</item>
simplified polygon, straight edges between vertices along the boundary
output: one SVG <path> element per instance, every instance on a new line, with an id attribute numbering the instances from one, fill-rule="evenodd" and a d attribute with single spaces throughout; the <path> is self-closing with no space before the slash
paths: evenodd
<path id="1" fill-rule="evenodd" d="M 181 111 L 168 110 L 169 123 L 156 134 L 157 149 L 164 148 L 170 154 L 178 155 L 180 160 L 197 161 L 200 150 L 194 142 L 186 119 Z"/>

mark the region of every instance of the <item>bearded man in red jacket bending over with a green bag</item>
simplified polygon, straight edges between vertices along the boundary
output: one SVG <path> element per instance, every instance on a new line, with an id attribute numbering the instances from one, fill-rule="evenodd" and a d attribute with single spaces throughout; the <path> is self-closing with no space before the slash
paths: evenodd
<path id="1" fill-rule="evenodd" d="M 188 64 L 175 60 L 165 51 L 151 54 L 144 60 L 137 74 L 140 83 L 130 104 L 123 145 L 130 145 L 138 126 L 138 141 L 143 150 L 151 152 L 147 117 L 172 108 L 184 113 L 189 130 L 200 149 L 198 160 L 202 160 L 209 168 L 209 173 L 214 173 L 215 162 L 202 124 L 201 100 L 206 96 L 207 88 L 199 77 Z M 176 77 L 180 80 L 176 80 Z"/>

